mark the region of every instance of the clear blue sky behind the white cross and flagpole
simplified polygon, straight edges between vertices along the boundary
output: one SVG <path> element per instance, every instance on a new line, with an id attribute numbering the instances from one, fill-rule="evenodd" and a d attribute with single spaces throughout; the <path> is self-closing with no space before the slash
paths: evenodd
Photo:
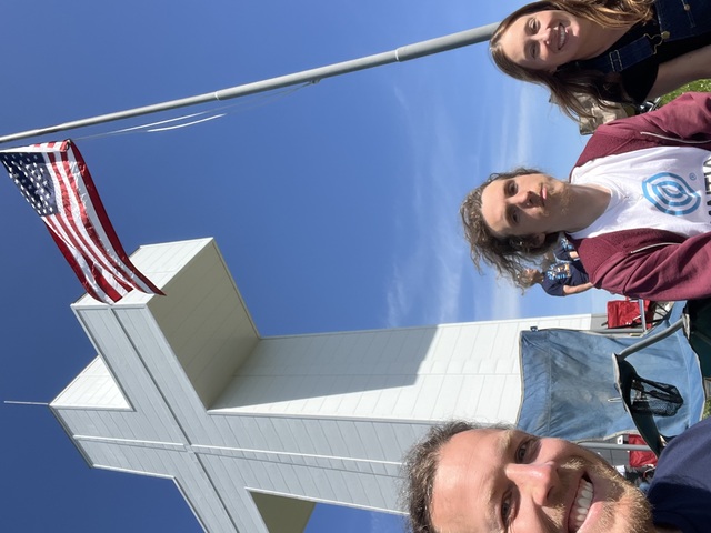
<path id="1" fill-rule="evenodd" d="M 393 50 L 522 3 L 6 0 L 0 134 Z M 485 46 L 227 103 L 191 128 L 106 134 L 217 105 L 4 148 L 76 139 L 129 252 L 216 237 L 263 335 L 604 309 L 598 291 L 522 296 L 468 259 L 458 208 L 470 188 L 518 164 L 567 175 L 584 144 Z M 81 285 L 9 180 L 0 217 L 0 399 L 49 402 L 96 355 L 69 308 Z M 0 404 L 0 530 L 199 531 L 170 481 L 88 469 L 47 408 Z M 308 532 L 331 531 L 401 526 L 320 507 Z"/>

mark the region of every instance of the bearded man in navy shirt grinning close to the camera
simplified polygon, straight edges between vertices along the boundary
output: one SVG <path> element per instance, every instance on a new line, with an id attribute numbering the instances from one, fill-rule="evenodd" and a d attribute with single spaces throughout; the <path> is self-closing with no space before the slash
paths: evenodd
<path id="1" fill-rule="evenodd" d="M 413 533 L 705 532 L 711 420 L 662 453 L 647 497 L 600 456 L 560 439 L 467 422 L 434 426 L 404 461 Z"/>

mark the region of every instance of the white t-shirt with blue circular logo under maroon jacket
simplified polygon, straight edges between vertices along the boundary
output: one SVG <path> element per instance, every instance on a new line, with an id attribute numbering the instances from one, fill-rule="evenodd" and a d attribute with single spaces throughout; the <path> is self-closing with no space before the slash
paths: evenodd
<path id="1" fill-rule="evenodd" d="M 598 220 L 571 235 L 582 239 L 638 228 L 687 237 L 708 232 L 711 187 L 704 163 L 710 157 L 708 150 L 692 147 L 647 148 L 575 168 L 571 183 L 602 185 L 611 198 Z"/>

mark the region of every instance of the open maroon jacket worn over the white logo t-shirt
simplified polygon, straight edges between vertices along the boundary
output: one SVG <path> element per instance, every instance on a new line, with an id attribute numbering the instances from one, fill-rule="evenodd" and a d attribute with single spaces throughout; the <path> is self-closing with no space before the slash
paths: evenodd
<path id="1" fill-rule="evenodd" d="M 657 111 L 599 127 L 575 167 L 645 148 L 682 145 L 711 151 L 711 93 L 689 92 Z M 711 225 L 709 233 L 691 238 L 640 228 L 571 242 L 599 289 L 657 301 L 711 296 Z"/>

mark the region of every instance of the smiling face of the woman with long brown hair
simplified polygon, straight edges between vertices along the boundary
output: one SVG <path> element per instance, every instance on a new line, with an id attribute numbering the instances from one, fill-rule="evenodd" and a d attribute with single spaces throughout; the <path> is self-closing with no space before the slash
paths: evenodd
<path id="1" fill-rule="evenodd" d="M 584 59 L 582 32 L 581 20 L 573 14 L 538 11 L 515 19 L 501 34 L 499 46 L 520 67 L 553 72 L 561 64 Z"/>

